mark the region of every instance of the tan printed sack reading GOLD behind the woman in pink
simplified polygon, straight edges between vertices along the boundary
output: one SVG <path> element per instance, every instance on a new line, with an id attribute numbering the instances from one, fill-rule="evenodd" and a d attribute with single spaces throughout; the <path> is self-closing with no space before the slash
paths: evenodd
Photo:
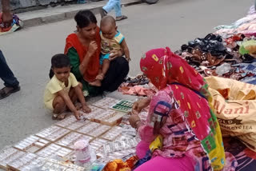
<path id="1" fill-rule="evenodd" d="M 206 82 L 222 136 L 238 137 L 256 151 L 256 85 L 217 77 L 208 77 Z"/>

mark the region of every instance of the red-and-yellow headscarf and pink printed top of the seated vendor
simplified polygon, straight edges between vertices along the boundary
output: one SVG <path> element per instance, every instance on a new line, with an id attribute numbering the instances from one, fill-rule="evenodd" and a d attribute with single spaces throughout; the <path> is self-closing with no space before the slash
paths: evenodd
<path id="1" fill-rule="evenodd" d="M 170 157 L 170 154 L 173 157 L 180 157 L 184 153 L 192 152 L 189 155 L 193 156 L 196 155 L 194 150 L 201 153 L 202 148 L 200 149 L 199 146 L 198 149 L 189 150 L 190 147 L 195 147 L 199 140 L 210 158 L 212 168 L 222 169 L 225 165 L 222 134 L 217 118 L 206 100 L 211 98 L 202 76 L 186 61 L 173 54 L 168 47 L 148 51 L 143 55 L 140 66 L 147 78 L 158 89 L 162 89 L 153 97 L 150 104 L 148 123 L 153 128 L 150 129 L 149 126 L 146 128 L 151 134 L 159 132 L 164 137 L 162 151 L 157 150 L 154 153 L 165 157 L 168 155 Z M 153 114 L 157 105 L 160 112 Z M 152 118 L 154 120 L 150 120 Z M 186 127 L 188 129 L 185 129 Z M 192 136 L 193 133 L 195 137 Z M 148 140 L 154 140 L 148 137 L 150 133 L 142 134 Z M 202 158 L 203 156 L 204 153 Z"/>

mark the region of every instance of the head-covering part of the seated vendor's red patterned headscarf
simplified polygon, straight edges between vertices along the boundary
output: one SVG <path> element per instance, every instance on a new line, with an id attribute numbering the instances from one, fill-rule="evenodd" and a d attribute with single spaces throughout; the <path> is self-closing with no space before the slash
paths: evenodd
<path id="1" fill-rule="evenodd" d="M 172 53 L 169 47 L 146 52 L 140 62 L 141 70 L 158 88 L 178 82 L 190 89 L 200 91 L 206 83 L 192 66 L 178 55 Z"/>

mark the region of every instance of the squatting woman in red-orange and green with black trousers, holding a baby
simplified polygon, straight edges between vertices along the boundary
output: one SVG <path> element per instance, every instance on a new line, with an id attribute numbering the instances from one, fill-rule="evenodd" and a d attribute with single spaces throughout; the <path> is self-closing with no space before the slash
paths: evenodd
<path id="1" fill-rule="evenodd" d="M 66 38 L 65 54 L 70 58 L 72 73 L 82 82 L 83 90 L 90 95 L 102 91 L 114 91 L 126 78 L 129 64 L 122 58 L 122 51 L 112 51 L 110 69 L 106 73 L 100 88 L 89 85 L 94 82 L 100 67 L 101 38 L 97 19 L 90 10 L 79 11 L 74 20 L 77 22 L 77 32 Z"/>

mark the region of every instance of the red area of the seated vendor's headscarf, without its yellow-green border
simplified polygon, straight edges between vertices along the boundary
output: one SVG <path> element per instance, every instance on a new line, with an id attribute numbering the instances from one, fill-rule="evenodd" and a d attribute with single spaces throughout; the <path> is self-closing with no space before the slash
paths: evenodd
<path id="1" fill-rule="evenodd" d="M 164 89 L 174 82 L 182 84 L 170 85 L 173 90 L 172 95 L 178 101 L 179 109 L 184 113 L 194 133 L 200 140 L 204 139 L 210 131 L 208 125 L 210 112 L 206 112 L 210 111 L 210 107 L 205 98 L 191 90 L 199 92 L 203 85 L 206 85 L 202 76 L 185 60 L 172 53 L 168 47 L 146 52 L 141 59 L 140 66 L 142 72 L 158 89 Z M 162 96 L 159 97 L 159 99 L 162 98 Z"/>

